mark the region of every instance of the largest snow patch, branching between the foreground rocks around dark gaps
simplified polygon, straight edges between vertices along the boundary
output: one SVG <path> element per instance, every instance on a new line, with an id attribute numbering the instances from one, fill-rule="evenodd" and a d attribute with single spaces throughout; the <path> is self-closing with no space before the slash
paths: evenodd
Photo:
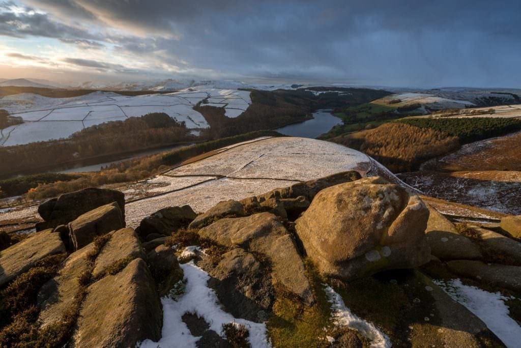
<path id="1" fill-rule="evenodd" d="M 201 268 L 193 262 L 180 265 L 187 280 L 185 293 L 178 301 L 163 297 L 163 332 L 159 342 L 146 340 L 141 344 L 142 348 L 156 347 L 195 347 L 199 337 L 194 337 L 181 317 L 187 312 L 196 313 L 203 317 L 214 330 L 221 336 L 222 325 L 235 322 L 244 325 L 250 332 L 249 341 L 252 348 L 270 347 L 267 338 L 266 324 L 258 324 L 245 319 L 234 318 L 224 312 L 217 300 L 214 290 L 207 287 L 206 282 L 210 278 Z"/>

